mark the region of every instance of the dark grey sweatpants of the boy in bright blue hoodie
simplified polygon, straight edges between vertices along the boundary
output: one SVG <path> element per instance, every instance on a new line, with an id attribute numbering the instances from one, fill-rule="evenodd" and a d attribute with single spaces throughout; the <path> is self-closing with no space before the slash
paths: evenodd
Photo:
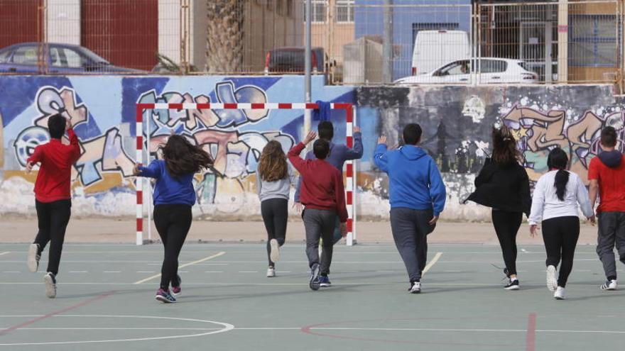
<path id="1" fill-rule="evenodd" d="M 411 282 L 421 279 L 428 260 L 428 234 L 434 230 L 429 223 L 432 217 L 432 211 L 391 208 L 393 240 Z"/>

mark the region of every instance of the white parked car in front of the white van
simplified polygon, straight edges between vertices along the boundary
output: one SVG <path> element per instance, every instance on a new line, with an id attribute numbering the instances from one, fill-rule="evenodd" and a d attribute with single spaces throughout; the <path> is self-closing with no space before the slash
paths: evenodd
<path id="1" fill-rule="evenodd" d="M 479 64 L 478 67 L 471 67 Z M 472 73 L 473 72 L 473 73 Z M 522 60 L 497 57 L 456 60 L 430 73 L 397 79 L 395 84 L 534 84 L 538 74 Z"/>

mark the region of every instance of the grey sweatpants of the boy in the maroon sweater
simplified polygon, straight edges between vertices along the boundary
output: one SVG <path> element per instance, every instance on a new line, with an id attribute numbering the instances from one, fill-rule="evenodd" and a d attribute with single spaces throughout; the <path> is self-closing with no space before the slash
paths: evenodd
<path id="1" fill-rule="evenodd" d="M 306 256 L 308 267 L 319 264 L 319 239 L 323 238 L 323 250 L 321 252 L 321 273 L 330 273 L 332 264 L 332 247 L 334 241 L 332 234 L 335 231 L 337 213 L 335 211 L 317 210 L 306 208 L 302 215 L 306 230 Z"/>

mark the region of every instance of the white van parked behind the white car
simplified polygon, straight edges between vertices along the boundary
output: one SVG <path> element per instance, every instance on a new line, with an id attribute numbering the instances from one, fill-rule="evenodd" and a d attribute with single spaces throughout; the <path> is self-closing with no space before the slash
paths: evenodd
<path id="1" fill-rule="evenodd" d="M 464 30 L 420 30 L 415 38 L 412 74 L 424 74 L 448 62 L 471 57 Z"/>

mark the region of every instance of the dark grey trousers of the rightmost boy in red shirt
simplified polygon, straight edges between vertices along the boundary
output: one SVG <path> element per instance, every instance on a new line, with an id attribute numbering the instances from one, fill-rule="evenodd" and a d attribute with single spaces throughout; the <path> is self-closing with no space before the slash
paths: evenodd
<path id="1" fill-rule="evenodd" d="M 614 247 L 625 263 L 625 212 L 599 213 L 599 235 L 597 235 L 597 255 L 603 263 L 606 277 L 616 279 Z"/>

